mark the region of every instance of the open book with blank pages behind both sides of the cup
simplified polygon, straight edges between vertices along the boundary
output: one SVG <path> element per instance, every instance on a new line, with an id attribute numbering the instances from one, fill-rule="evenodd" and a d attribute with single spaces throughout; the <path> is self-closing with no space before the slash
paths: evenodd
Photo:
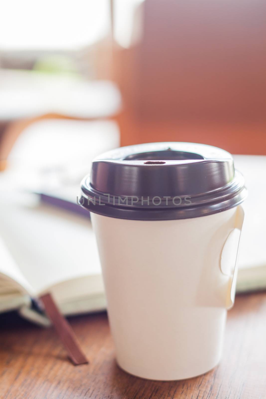
<path id="1" fill-rule="evenodd" d="M 237 292 L 266 288 L 266 156 L 235 156 L 249 190 L 238 256 Z M 32 298 L 50 292 L 65 315 L 106 307 L 88 217 L 36 202 L 0 201 L 0 312 L 49 324 Z"/>

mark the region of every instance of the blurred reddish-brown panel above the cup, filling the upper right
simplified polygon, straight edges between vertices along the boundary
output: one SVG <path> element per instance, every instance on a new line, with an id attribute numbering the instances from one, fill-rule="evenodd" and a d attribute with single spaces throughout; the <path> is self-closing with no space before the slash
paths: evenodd
<path id="1" fill-rule="evenodd" d="M 195 141 L 266 154 L 266 2 L 146 0 L 142 41 L 116 48 L 122 145 Z"/>

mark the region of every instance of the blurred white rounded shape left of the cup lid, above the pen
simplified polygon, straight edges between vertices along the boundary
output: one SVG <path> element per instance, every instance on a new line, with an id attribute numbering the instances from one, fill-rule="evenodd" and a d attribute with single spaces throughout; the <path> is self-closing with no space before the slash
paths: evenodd
<path id="1" fill-rule="evenodd" d="M 119 144 L 119 129 L 113 121 L 44 119 L 20 134 L 8 161 L 20 175 L 20 187 L 71 192 L 71 185 L 77 190 L 89 172 L 93 158 Z"/>

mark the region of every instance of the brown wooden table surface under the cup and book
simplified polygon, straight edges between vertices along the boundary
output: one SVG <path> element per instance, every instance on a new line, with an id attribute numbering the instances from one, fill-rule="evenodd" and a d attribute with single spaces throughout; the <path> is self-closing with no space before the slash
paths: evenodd
<path id="1" fill-rule="evenodd" d="M 89 365 L 69 362 L 53 328 L 33 326 L 14 314 L 0 317 L 1 399 L 266 398 L 266 292 L 236 297 L 220 365 L 183 381 L 148 381 L 118 368 L 105 313 L 70 322 Z"/>

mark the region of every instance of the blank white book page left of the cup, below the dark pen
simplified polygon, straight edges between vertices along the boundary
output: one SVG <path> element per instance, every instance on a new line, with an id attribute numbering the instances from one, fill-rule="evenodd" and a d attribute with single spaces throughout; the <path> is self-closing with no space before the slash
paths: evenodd
<path id="1" fill-rule="evenodd" d="M 65 280 L 101 273 L 89 213 L 86 218 L 47 205 L 5 203 L 0 229 L 21 274 L 37 294 Z"/>

